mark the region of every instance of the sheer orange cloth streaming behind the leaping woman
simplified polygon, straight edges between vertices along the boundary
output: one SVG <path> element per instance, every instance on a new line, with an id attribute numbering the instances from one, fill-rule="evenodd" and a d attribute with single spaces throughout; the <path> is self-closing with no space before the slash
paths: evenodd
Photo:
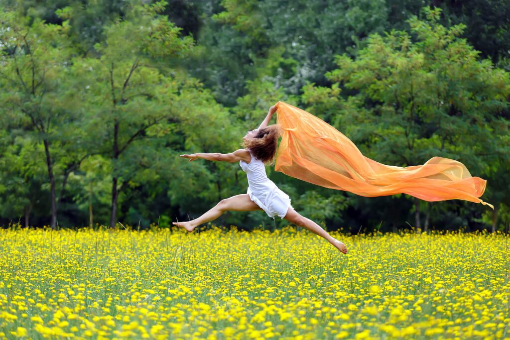
<path id="1" fill-rule="evenodd" d="M 405 168 L 377 163 L 323 120 L 282 101 L 276 108 L 282 134 L 276 171 L 360 196 L 404 193 L 426 201 L 464 199 L 492 207 L 478 198 L 487 181 L 472 177 L 460 162 L 434 157 Z"/>

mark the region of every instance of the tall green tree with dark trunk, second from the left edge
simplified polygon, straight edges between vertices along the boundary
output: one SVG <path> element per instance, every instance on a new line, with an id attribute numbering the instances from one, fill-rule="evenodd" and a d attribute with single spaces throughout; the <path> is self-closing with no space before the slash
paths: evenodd
<path id="1" fill-rule="evenodd" d="M 230 121 L 209 92 L 175 67 L 193 41 L 158 14 L 164 6 L 134 6 L 105 29 L 106 41 L 95 46 L 99 57 L 73 66 L 91 148 L 111 165 L 111 227 L 120 193 L 158 180 L 156 165 L 166 163 L 170 150 L 189 146 L 198 134 L 209 147 L 230 134 L 214 130 Z"/>

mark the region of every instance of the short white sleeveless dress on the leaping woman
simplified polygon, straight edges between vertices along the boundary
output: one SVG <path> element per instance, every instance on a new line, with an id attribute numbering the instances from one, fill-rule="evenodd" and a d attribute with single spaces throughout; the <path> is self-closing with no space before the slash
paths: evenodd
<path id="1" fill-rule="evenodd" d="M 284 218 L 289 207 L 292 207 L 289 195 L 279 190 L 273 181 L 267 178 L 264 163 L 256 159 L 251 151 L 250 155 L 250 163 L 242 160 L 239 162 L 241 169 L 246 172 L 248 177 L 247 194 L 269 217 L 279 216 Z"/>

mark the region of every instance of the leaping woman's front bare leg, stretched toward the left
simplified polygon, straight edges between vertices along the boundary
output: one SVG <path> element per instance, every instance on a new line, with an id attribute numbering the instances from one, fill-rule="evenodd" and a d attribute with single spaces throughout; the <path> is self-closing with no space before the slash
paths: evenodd
<path id="1" fill-rule="evenodd" d="M 222 199 L 208 212 L 194 220 L 188 222 L 173 222 L 172 224 L 178 227 L 184 227 L 186 230 L 191 232 L 197 225 L 215 220 L 226 211 L 251 212 L 254 210 L 262 209 L 257 205 L 257 203 L 250 199 L 248 194 L 236 195 L 230 198 Z"/>

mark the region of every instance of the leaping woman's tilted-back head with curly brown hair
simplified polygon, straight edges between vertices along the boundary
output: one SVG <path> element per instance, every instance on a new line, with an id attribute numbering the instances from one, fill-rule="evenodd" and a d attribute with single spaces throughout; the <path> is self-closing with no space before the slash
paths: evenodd
<path id="1" fill-rule="evenodd" d="M 243 146 L 251 150 L 256 159 L 273 164 L 279 134 L 278 125 L 269 125 L 261 128 L 254 138 L 244 141 Z"/>

